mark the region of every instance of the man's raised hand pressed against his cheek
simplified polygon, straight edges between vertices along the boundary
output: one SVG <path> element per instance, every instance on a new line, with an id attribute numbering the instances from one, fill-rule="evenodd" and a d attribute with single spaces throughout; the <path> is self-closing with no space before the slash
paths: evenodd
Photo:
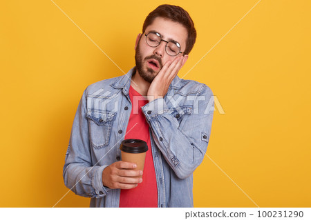
<path id="1" fill-rule="evenodd" d="M 149 87 L 147 93 L 149 101 L 153 101 L 154 99 L 164 97 L 164 95 L 167 94 L 169 85 L 178 74 L 180 68 L 182 68 L 184 59 L 186 58 L 180 56 L 173 59 L 173 61 L 167 61 L 164 64 L 163 68 L 160 70 L 158 75 L 153 79 Z"/>

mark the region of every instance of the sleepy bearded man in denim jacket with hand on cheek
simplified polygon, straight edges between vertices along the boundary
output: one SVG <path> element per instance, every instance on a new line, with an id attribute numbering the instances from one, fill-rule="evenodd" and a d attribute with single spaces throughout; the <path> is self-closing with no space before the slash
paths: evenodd
<path id="1" fill-rule="evenodd" d="M 185 10 L 159 6 L 136 39 L 136 66 L 84 91 L 63 175 L 70 190 L 91 197 L 91 207 L 194 206 L 193 172 L 214 110 L 205 84 L 177 77 L 195 41 Z M 120 143 L 129 138 L 148 143 L 144 170 L 121 161 Z"/>

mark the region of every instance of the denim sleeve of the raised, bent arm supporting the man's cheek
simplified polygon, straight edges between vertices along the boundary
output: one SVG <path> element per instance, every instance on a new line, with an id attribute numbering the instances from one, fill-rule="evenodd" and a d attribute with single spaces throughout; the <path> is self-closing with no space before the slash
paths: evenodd
<path id="1" fill-rule="evenodd" d="M 201 85 L 199 94 L 187 97 L 193 100 L 193 107 L 181 121 L 162 98 L 142 107 L 156 145 L 180 179 L 189 177 L 202 163 L 209 143 L 214 97 L 207 86 Z"/>

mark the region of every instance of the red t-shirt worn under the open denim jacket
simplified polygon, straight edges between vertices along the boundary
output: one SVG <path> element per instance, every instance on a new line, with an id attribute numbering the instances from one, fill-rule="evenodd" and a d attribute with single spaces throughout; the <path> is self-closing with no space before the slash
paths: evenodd
<path id="1" fill-rule="evenodd" d="M 133 96 L 137 96 L 138 99 L 134 101 Z M 146 160 L 144 161 L 142 183 L 138 183 L 137 187 L 130 190 L 121 190 L 119 207 L 158 207 L 158 189 L 151 152 L 149 124 L 141 109 L 142 106 L 148 103 L 148 100 L 140 100 L 143 99 L 142 95 L 134 90 L 132 86 L 129 89 L 129 97 L 133 108 L 124 139 L 141 139 L 146 141 L 148 151 L 146 153 Z M 135 123 L 138 124 L 135 126 Z"/>

